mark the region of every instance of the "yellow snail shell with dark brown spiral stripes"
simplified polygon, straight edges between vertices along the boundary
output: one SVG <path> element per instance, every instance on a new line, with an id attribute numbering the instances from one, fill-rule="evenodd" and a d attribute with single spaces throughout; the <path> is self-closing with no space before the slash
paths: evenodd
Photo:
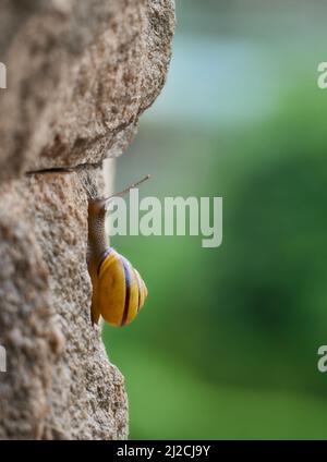
<path id="1" fill-rule="evenodd" d="M 96 312 L 112 326 L 125 326 L 146 296 L 146 285 L 131 263 L 112 247 L 106 251 L 97 270 Z"/>

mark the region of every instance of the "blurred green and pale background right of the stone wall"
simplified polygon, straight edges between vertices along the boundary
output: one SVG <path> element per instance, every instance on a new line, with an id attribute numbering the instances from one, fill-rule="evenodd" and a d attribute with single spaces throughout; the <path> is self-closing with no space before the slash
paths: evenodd
<path id="1" fill-rule="evenodd" d="M 326 438 L 327 5 L 182 1 L 161 96 L 116 190 L 222 196 L 223 243 L 120 236 L 149 296 L 105 327 L 131 438 Z"/>

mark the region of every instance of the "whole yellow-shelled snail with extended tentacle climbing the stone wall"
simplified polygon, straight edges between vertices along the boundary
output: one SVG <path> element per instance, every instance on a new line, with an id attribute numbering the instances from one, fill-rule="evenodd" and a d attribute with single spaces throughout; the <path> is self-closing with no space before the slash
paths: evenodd
<path id="1" fill-rule="evenodd" d="M 147 296 L 140 272 L 114 248 L 105 232 L 107 205 L 113 197 L 126 194 L 149 177 L 108 198 L 88 200 L 88 272 L 93 284 L 90 317 L 98 324 L 100 316 L 112 326 L 130 324 L 143 307 Z"/>

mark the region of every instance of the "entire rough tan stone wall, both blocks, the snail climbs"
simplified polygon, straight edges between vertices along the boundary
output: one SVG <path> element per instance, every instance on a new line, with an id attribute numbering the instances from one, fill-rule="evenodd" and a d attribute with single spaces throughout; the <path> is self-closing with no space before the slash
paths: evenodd
<path id="1" fill-rule="evenodd" d="M 173 24 L 172 0 L 0 0 L 2 439 L 128 436 L 123 378 L 89 321 L 87 197 L 164 85 Z"/>

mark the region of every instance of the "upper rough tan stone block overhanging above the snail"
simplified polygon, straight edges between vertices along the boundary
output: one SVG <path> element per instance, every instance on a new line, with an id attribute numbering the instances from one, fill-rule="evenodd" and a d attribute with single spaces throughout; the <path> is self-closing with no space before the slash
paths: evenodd
<path id="1" fill-rule="evenodd" d="M 171 0 L 0 5 L 9 85 L 0 94 L 0 170 L 8 175 L 121 154 L 165 82 Z"/>

